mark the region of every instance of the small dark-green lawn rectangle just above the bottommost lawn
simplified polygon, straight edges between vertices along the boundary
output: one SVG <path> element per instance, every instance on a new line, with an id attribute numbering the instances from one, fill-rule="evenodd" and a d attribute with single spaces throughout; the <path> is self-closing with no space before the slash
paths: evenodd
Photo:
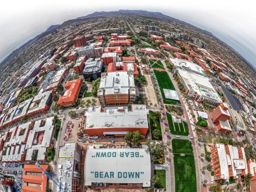
<path id="1" fill-rule="evenodd" d="M 191 141 L 187 139 L 172 140 L 173 153 L 193 154 Z"/>

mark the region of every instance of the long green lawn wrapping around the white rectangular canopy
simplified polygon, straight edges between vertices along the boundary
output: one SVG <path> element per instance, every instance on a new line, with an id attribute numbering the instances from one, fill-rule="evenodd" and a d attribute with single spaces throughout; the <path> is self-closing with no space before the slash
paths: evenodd
<path id="1" fill-rule="evenodd" d="M 169 99 L 165 98 L 164 89 L 175 90 L 174 85 L 173 85 L 171 79 L 169 78 L 168 73 L 166 71 L 163 72 L 163 71 L 156 71 L 156 70 L 154 70 L 154 73 L 155 73 L 157 82 L 159 84 L 164 103 L 165 104 L 173 104 L 173 105 L 180 103 L 180 101 L 174 101 L 174 100 L 169 100 Z"/>

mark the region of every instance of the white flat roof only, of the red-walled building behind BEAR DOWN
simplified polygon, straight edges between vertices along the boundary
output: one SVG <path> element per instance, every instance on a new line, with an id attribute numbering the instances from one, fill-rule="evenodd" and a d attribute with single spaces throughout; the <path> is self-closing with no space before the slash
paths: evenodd
<path id="1" fill-rule="evenodd" d="M 147 114 L 145 105 L 132 105 L 131 111 L 128 107 L 105 107 L 103 112 L 101 106 L 91 106 L 85 112 L 85 129 L 148 128 Z"/>

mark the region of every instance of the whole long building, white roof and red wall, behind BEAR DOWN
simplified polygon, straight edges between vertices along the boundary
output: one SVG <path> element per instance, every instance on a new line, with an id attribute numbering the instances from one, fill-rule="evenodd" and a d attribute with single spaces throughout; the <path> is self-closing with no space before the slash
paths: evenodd
<path id="1" fill-rule="evenodd" d="M 146 135 L 147 115 L 145 105 L 132 105 L 131 110 L 128 107 L 92 106 L 85 112 L 84 129 L 88 135 L 123 136 L 127 131 L 139 131 Z"/>

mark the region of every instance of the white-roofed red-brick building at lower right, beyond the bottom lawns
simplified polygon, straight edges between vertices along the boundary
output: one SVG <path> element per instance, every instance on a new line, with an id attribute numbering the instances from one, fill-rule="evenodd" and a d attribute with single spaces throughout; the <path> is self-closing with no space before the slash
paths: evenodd
<path id="1" fill-rule="evenodd" d="M 248 174 L 247 160 L 243 147 L 215 144 L 210 147 L 215 180 L 229 182 Z"/>

